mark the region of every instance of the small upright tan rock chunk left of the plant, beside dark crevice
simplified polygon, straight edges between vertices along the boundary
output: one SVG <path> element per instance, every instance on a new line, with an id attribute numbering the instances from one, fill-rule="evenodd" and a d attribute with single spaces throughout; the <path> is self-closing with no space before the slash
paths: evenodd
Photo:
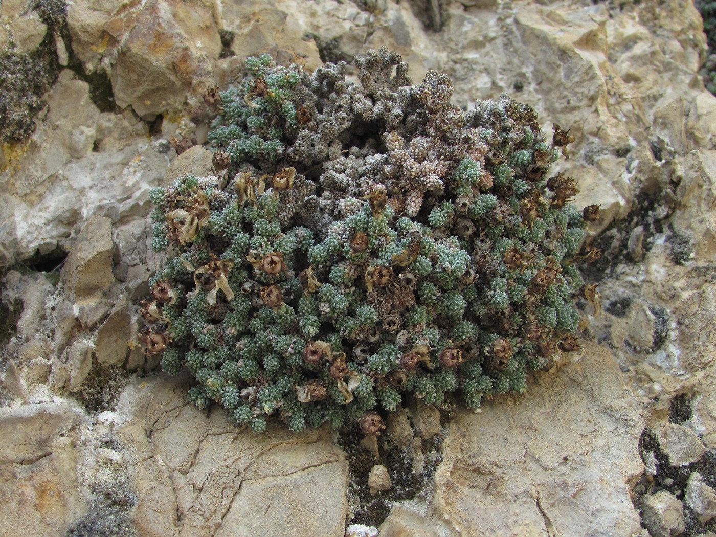
<path id="1" fill-rule="evenodd" d="M 75 301 L 97 299 L 110 287 L 112 276 L 112 221 L 93 216 L 79 232 L 62 267 L 62 281 Z"/>

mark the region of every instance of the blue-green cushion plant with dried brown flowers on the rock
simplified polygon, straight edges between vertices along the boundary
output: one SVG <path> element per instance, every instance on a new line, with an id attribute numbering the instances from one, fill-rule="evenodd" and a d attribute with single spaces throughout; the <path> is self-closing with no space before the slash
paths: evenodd
<path id="1" fill-rule="evenodd" d="M 277 415 L 377 433 L 406 393 L 475 408 L 576 347 L 575 263 L 598 256 L 581 246 L 599 209 L 578 211 L 574 180 L 548 171 L 574 139 L 555 127 L 547 143 L 504 96 L 463 112 L 448 77 L 413 85 L 385 49 L 355 63 L 357 84 L 344 63 L 248 59 L 206 97 L 228 182 L 151 196 L 168 260 L 147 352 L 195 376 L 196 405 L 256 431 Z"/>

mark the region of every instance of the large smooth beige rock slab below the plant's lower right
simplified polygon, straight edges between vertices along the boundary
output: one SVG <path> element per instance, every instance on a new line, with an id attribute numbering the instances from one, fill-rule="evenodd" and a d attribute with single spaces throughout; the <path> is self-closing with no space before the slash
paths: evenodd
<path id="1" fill-rule="evenodd" d="M 586 344 L 579 362 L 535 380 L 525 397 L 458 412 L 435 478 L 440 513 L 463 535 L 637 533 L 643 423 L 614 358 Z"/>

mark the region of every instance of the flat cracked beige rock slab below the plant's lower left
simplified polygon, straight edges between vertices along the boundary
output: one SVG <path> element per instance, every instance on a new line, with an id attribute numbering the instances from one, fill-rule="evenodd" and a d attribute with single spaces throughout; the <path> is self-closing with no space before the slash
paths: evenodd
<path id="1" fill-rule="evenodd" d="M 119 403 L 142 535 L 342 535 L 347 464 L 329 432 L 270 425 L 255 435 L 223 410 L 188 405 L 187 387 L 137 379 Z"/>

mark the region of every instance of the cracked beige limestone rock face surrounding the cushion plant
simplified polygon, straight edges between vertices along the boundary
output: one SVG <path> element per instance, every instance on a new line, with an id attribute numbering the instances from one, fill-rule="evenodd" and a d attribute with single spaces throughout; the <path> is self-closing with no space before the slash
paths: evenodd
<path id="1" fill-rule="evenodd" d="M 415 432 L 405 410 L 389 420 L 399 450 L 445 442 L 379 535 L 716 531 L 716 98 L 692 1 L 74 0 L 52 26 L 38 10 L 54 4 L 0 9 L 1 51 L 52 39 L 59 66 L 30 96 L 44 102 L 32 135 L 0 154 L 0 321 L 16 319 L 0 331 L 0 520 L 15 522 L 0 536 L 344 535 L 336 433 L 255 435 L 189 405 L 188 381 L 137 346 L 136 303 L 162 261 L 150 188 L 211 173 L 208 151 L 168 143 L 205 140 L 190 117 L 206 87 L 246 55 L 312 69 L 380 46 L 415 80 L 447 73 L 457 105 L 506 92 L 547 134 L 571 129 L 555 171 L 578 180 L 577 205 L 601 205 L 589 234 L 604 253 L 578 362 L 479 414 L 412 405 Z"/>

